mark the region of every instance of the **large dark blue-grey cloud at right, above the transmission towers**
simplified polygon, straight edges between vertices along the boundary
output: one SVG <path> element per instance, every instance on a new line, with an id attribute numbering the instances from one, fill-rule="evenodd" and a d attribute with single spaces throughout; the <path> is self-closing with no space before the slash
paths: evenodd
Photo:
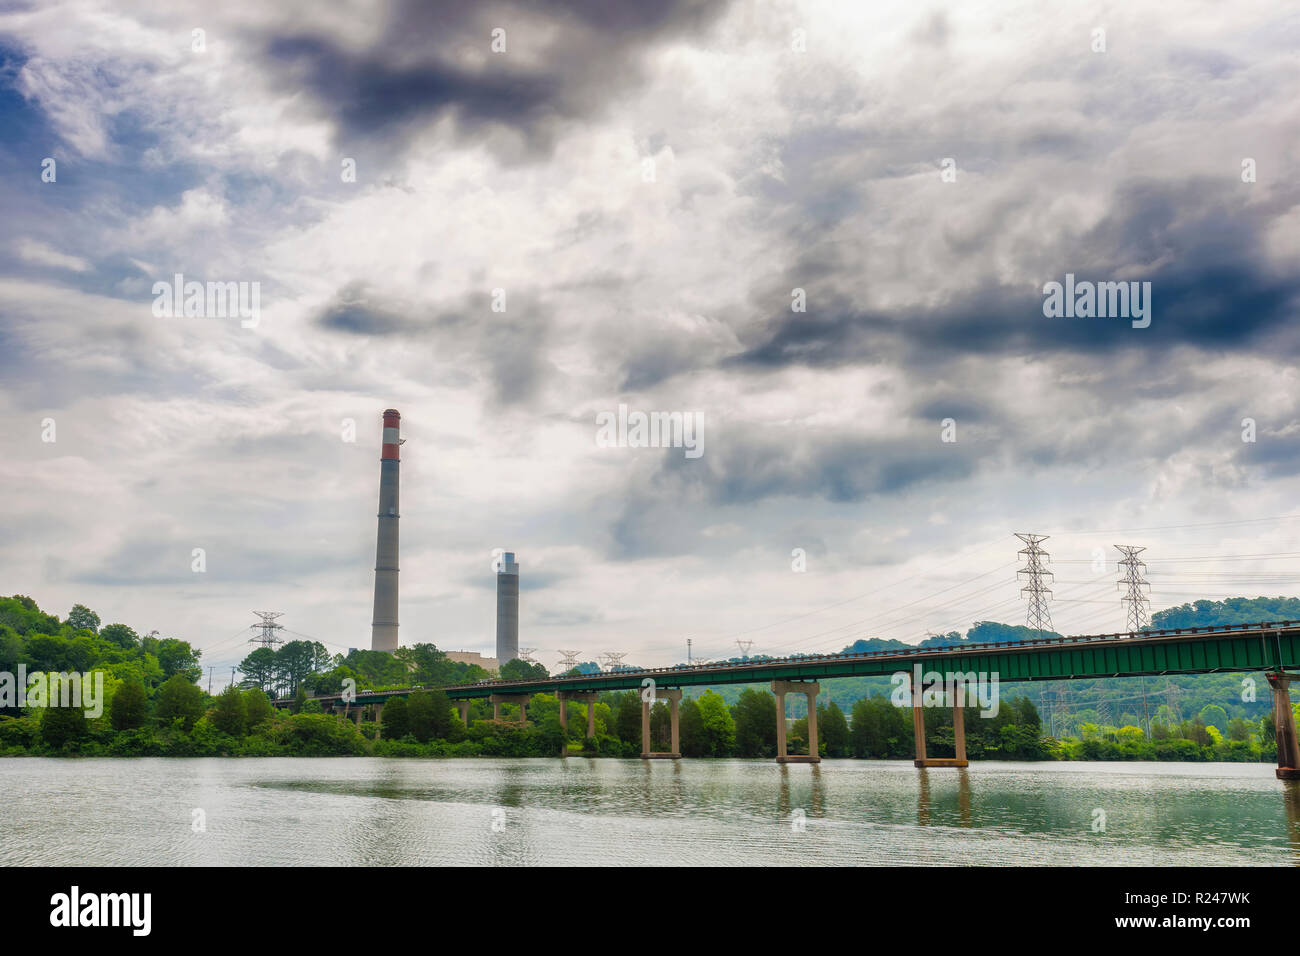
<path id="1" fill-rule="evenodd" d="M 1134 182 L 1122 189 L 1112 215 L 1070 247 L 1056 251 L 1056 268 L 1034 286 L 992 280 L 949 300 L 889 312 L 854 308 L 833 280 L 809 285 L 807 313 L 771 320 L 731 367 L 837 367 L 880 362 L 927 365 L 970 355 L 1106 354 L 1132 349 L 1193 346 L 1240 351 L 1284 330 L 1297 317 L 1300 277 L 1277 274 L 1262 248 L 1270 220 L 1300 202 L 1251 206 L 1232 189 L 1204 181 Z M 814 251 L 815 255 L 815 251 Z M 803 258 L 807 258 L 805 254 Z M 1166 264 L 1141 269 L 1144 263 Z M 1150 281 L 1152 324 L 1126 319 L 1046 317 L 1043 284 Z M 790 271 L 790 284 L 801 285 Z M 1294 352 L 1294 343 L 1287 349 Z"/>

